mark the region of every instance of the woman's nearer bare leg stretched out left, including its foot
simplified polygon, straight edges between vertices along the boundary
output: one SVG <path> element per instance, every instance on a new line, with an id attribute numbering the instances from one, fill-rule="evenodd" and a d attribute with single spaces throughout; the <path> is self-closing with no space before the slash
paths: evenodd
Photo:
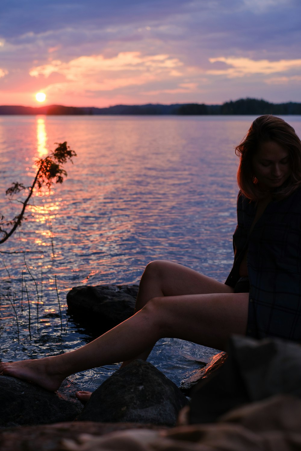
<path id="1" fill-rule="evenodd" d="M 232 333 L 245 334 L 248 293 L 160 296 L 96 340 L 69 353 L 12 364 L 0 372 L 55 391 L 65 377 L 88 368 L 134 359 L 162 337 L 225 349 Z"/>

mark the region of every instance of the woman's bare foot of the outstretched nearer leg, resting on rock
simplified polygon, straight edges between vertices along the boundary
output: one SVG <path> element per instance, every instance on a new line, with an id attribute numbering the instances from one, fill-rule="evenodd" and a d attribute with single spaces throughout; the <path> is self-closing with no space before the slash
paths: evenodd
<path id="1" fill-rule="evenodd" d="M 49 391 L 58 390 L 65 377 L 68 376 L 58 368 L 56 357 L 20 360 L 12 363 L 1 362 L 0 373 L 34 382 Z"/>

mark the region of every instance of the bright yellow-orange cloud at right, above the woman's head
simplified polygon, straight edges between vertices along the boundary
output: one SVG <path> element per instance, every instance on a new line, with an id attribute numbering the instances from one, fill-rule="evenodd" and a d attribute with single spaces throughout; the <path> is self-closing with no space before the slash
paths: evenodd
<path id="1" fill-rule="evenodd" d="M 219 57 L 209 58 L 210 63 L 222 62 L 231 67 L 226 69 L 207 70 L 207 74 L 211 75 L 227 75 L 228 78 L 243 77 L 251 74 L 273 74 L 277 72 L 285 72 L 291 69 L 301 69 L 301 59 L 298 60 L 250 60 L 249 58 L 236 57 Z"/>

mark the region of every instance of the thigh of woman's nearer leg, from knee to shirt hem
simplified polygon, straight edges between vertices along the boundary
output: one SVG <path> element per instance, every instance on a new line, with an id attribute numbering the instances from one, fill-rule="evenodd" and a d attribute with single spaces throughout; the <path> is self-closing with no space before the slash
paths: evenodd
<path id="1" fill-rule="evenodd" d="M 225 350 L 232 334 L 245 335 L 248 293 L 162 296 L 151 299 L 161 335 Z"/>

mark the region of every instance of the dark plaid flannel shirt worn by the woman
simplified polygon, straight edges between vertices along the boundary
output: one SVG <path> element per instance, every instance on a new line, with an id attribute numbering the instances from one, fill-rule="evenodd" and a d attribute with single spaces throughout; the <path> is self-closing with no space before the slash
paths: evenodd
<path id="1" fill-rule="evenodd" d="M 286 199 L 270 202 L 250 233 L 255 212 L 255 202 L 239 193 L 234 264 L 225 283 L 232 287 L 236 284 L 248 249 L 246 334 L 301 342 L 301 189 Z"/>

